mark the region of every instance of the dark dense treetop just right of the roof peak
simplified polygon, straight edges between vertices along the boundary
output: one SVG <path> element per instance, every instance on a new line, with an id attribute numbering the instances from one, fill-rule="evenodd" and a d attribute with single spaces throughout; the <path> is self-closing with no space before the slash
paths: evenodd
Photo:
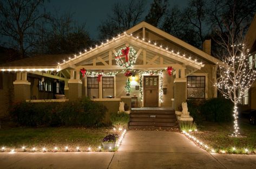
<path id="1" fill-rule="evenodd" d="M 158 26 L 168 8 L 167 0 L 154 0 L 145 21 L 153 26 Z"/>

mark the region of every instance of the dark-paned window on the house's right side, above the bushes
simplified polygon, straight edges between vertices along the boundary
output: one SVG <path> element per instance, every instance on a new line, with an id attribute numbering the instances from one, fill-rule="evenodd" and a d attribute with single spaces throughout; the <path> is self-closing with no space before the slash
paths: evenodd
<path id="1" fill-rule="evenodd" d="M 205 98 L 205 76 L 187 76 L 187 98 Z"/>

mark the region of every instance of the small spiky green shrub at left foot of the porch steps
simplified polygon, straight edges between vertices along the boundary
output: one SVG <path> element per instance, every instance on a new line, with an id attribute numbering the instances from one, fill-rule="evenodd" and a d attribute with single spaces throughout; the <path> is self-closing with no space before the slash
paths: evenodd
<path id="1" fill-rule="evenodd" d="M 113 112 L 110 115 L 110 121 L 115 128 L 127 128 L 130 115 L 126 112 Z"/>

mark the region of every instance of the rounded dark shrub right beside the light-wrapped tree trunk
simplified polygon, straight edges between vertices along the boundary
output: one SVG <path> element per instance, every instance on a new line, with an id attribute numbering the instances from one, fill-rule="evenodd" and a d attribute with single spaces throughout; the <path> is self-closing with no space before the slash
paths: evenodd
<path id="1" fill-rule="evenodd" d="M 201 107 L 201 112 L 207 121 L 211 122 L 229 122 L 232 121 L 232 111 L 234 104 L 224 98 L 211 98 Z"/>

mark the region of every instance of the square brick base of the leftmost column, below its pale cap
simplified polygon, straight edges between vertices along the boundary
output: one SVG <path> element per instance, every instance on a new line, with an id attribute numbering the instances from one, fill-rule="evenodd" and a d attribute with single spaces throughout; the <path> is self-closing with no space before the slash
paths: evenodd
<path id="1" fill-rule="evenodd" d="M 30 100 L 30 85 L 15 84 L 14 85 L 14 101 Z"/>

